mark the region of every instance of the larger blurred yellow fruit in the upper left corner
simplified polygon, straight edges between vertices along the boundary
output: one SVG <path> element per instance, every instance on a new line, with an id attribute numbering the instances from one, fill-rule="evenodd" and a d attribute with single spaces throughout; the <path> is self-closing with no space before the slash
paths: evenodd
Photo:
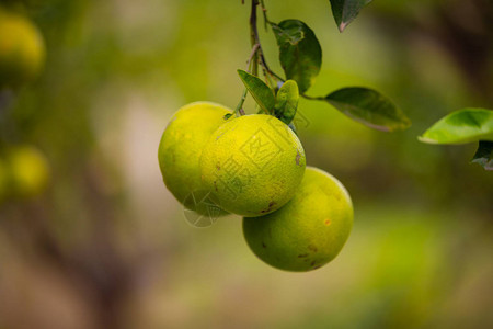
<path id="1" fill-rule="evenodd" d="M 35 79 L 45 52 L 43 37 L 31 21 L 0 9 L 0 88 Z"/>

